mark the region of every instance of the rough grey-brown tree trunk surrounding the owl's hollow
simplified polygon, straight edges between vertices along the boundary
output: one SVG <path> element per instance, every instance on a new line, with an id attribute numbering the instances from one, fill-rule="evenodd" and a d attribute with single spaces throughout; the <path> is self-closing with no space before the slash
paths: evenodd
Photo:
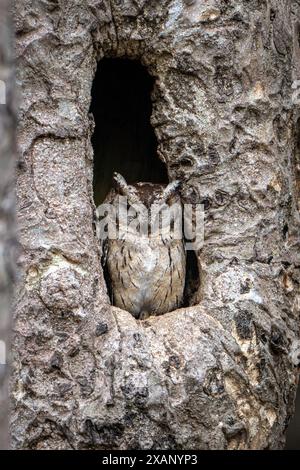
<path id="1" fill-rule="evenodd" d="M 298 10 L 17 2 L 15 448 L 284 445 L 299 362 Z M 144 322 L 109 305 L 95 238 L 89 107 L 104 56 L 156 78 L 159 156 L 206 209 L 199 304 Z"/>

